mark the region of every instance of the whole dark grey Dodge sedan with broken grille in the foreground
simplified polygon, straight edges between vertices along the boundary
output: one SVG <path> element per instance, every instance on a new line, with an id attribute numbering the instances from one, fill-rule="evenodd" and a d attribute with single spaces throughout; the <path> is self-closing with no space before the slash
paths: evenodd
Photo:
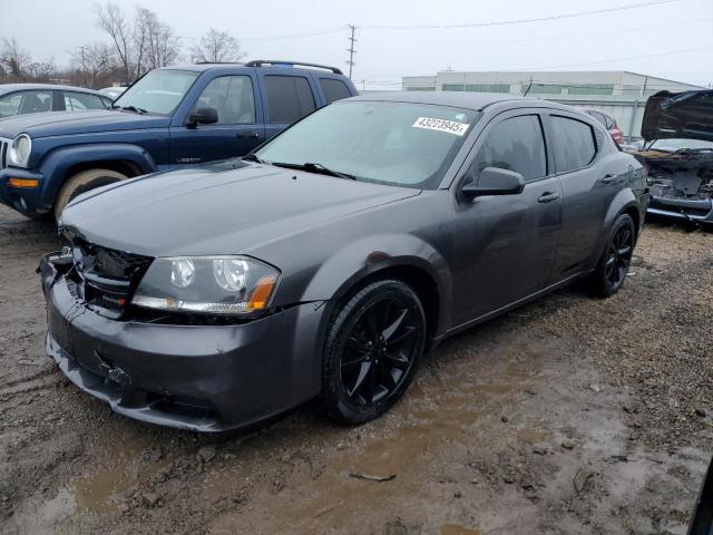
<path id="1" fill-rule="evenodd" d="M 574 108 L 344 99 L 241 159 L 78 196 L 39 269 L 46 349 L 144 421 L 218 431 L 320 396 L 360 424 L 446 337 L 576 279 L 614 294 L 647 202 Z"/>

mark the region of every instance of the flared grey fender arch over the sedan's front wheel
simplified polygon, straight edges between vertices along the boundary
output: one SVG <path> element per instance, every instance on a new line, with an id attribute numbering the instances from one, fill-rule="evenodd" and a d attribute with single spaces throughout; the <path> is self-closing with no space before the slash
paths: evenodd
<path id="1" fill-rule="evenodd" d="M 307 283 L 302 301 L 329 301 L 333 307 L 361 281 L 391 268 L 418 269 L 436 284 L 441 333 L 448 325 L 452 295 L 451 270 L 443 255 L 412 234 L 387 233 L 351 242 L 322 263 Z M 325 314 L 329 319 L 330 314 Z"/>

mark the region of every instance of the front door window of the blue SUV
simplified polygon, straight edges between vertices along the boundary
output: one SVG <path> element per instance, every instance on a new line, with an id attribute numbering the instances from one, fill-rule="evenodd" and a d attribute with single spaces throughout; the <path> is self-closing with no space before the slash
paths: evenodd
<path id="1" fill-rule="evenodd" d="M 215 108 L 218 125 L 251 125 L 255 123 L 255 97 L 250 76 L 222 76 L 211 80 L 193 111 Z"/>

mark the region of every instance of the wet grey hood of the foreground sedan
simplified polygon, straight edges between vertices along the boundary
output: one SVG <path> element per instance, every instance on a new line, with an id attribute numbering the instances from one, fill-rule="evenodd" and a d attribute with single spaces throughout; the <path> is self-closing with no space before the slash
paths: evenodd
<path id="1" fill-rule="evenodd" d="M 272 241 L 419 193 L 228 160 L 88 192 L 65 210 L 60 230 L 148 256 L 250 253 Z M 315 240 L 318 236 L 315 233 Z"/>

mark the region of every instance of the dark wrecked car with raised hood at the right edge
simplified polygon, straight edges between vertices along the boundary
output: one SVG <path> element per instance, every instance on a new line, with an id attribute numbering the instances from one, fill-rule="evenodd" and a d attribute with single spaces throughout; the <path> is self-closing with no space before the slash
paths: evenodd
<path id="1" fill-rule="evenodd" d="M 648 213 L 713 224 L 713 89 L 661 91 L 642 123 L 652 200 Z"/>

